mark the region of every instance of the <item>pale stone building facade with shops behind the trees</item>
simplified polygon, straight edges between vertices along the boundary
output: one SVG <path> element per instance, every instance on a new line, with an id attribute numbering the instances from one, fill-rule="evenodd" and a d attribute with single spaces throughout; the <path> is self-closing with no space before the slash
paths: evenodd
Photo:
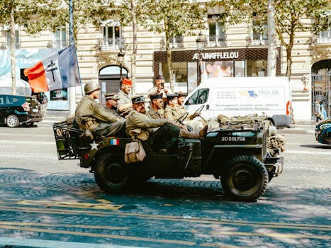
<path id="1" fill-rule="evenodd" d="M 218 14 L 220 13 L 217 8 L 208 9 L 206 29 L 201 30 L 206 37 L 202 64 L 199 64 L 196 48 L 196 38 L 200 30 L 196 30 L 196 35 L 173 37 L 170 40 L 171 75 L 175 91 L 190 92 L 201 79 L 208 77 L 267 76 L 267 35 L 252 33 L 245 23 L 225 27 L 218 23 Z M 162 34 L 149 32 L 140 26 L 137 42 L 135 94 L 147 94 L 157 74 L 163 74 L 166 84 L 169 84 L 164 37 Z M 2 30 L 1 60 L 4 59 L 5 51 L 10 49 L 9 44 L 9 33 L 7 30 Z M 120 77 L 131 77 L 132 74 L 132 44 L 132 28 L 120 26 L 116 19 L 106 21 L 101 28 L 86 26 L 80 30 L 77 36 L 77 58 L 83 86 L 87 81 L 96 81 L 99 82 L 103 94 L 117 92 Z M 23 69 L 42 60 L 43 57 L 40 55 L 46 56 L 67 45 L 66 29 L 59 29 L 55 33 L 45 31 L 40 35 L 30 36 L 24 33 L 22 28 L 17 28 L 16 52 L 24 54 L 26 63 L 18 63 L 16 77 L 26 79 L 22 74 Z M 120 51 L 125 53 L 123 62 L 118 60 Z M 277 51 L 276 76 L 284 76 L 286 51 L 280 43 L 278 43 Z M 317 36 L 308 32 L 296 33 L 292 58 L 290 85 L 294 118 L 311 120 L 316 99 L 322 101 L 330 115 L 331 30 L 325 30 Z M 6 61 L 8 63 L 8 56 Z M 0 74 L 0 77 L 2 76 Z M 83 95 L 82 87 L 76 87 L 75 91 L 78 101 Z M 46 94 L 50 99 L 47 108 L 69 108 L 67 89 Z M 101 101 L 103 101 L 102 96 Z"/>

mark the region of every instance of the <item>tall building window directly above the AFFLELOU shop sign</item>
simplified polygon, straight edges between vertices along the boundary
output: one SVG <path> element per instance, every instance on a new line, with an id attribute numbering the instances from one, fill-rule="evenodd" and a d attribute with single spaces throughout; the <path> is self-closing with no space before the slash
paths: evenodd
<path id="1" fill-rule="evenodd" d="M 209 36 L 208 36 L 208 46 L 210 47 L 225 47 L 225 26 L 220 23 L 218 18 L 220 15 L 208 15 L 208 26 L 209 26 Z"/>

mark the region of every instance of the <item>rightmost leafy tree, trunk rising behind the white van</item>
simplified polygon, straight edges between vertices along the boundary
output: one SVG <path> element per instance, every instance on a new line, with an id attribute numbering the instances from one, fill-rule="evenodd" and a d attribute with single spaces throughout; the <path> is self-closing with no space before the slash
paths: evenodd
<path id="1" fill-rule="evenodd" d="M 260 23 L 267 23 L 268 0 L 228 0 L 214 1 L 214 4 L 222 4 L 225 13 L 223 20 L 228 23 L 240 23 L 245 21 L 251 24 L 253 18 Z M 274 0 L 275 30 L 286 50 L 286 77 L 291 78 L 292 50 L 294 38 L 297 32 L 310 30 L 316 31 L 316 25 L 308 25 L 305 19 L 315 19 L 322 9 L 330 9 L 330 0 Z M 317 23 L 320 23 L 319 21 Z M 262 26 L 261 26 L 262 28 Z"/>

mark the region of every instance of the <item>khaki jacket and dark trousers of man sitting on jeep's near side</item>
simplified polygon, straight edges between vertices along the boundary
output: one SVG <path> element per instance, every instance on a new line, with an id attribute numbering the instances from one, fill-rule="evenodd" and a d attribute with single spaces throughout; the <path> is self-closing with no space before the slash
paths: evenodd
<path id="1" fill-rule="evenodd" d="M 153 119 L 150 115 L 134 110 L 126 119 L 126 133 L 131 136 L 133 130 L 139 130 L 140 134 L 149 137 L 147 142 L 155 150 L 171 147 L 172 138 L 179 137 L 181 129 L 167 122 L 167 119 Z"/>

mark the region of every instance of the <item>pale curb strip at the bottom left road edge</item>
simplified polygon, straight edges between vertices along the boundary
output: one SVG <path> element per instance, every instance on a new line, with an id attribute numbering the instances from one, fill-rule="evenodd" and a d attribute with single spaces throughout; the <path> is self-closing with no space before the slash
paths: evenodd
<path id="1" fill-rule="evenodd" d="M 116 244 L 92 244 L 79 242 L 64 242 L 44 239 L 23 239 L 15 237 L 0 237 L 0 247 L 20 247 L 20 248 L 138 248 Z M 140 247 L 143 248 L 143 247 Z M 147 247 L 145 247 L 147 248 Z"/>

